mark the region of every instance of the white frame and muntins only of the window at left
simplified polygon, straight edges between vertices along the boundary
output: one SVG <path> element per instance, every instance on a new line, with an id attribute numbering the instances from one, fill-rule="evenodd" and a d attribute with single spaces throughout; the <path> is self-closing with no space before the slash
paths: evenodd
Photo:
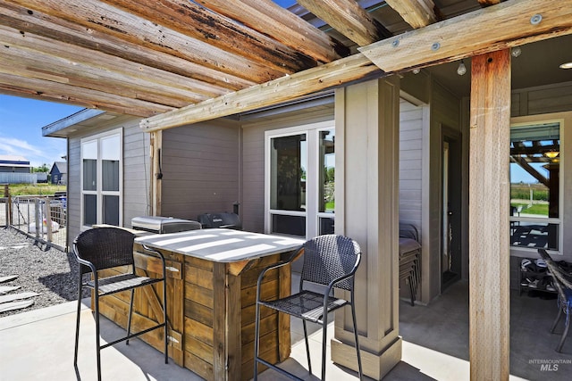
<path id="1" fill-rule="evenodd" d="M 101 173 L 101 146 L 100 140 L 105 137 L 119 137 L 119 191 L 104 191 L 101 190 L 102 186 L 102 173 Z M 83 145 L 89 142 L 97 141 L 97 189 L 84 190 L 83 189 Z M 123 225 L 123 128 L 114 128 L 112 130 L 102 132 L 90 137 L 82 137 L 80 139 L 80 225 L 81 230 L 91 228 L 84 222 L 84 201 L 83 195 L 97 195 L 97 224 L 103 223 L 103 197 L 104 195 L 118 195 L 119 196 L 119 226 Z"/>

